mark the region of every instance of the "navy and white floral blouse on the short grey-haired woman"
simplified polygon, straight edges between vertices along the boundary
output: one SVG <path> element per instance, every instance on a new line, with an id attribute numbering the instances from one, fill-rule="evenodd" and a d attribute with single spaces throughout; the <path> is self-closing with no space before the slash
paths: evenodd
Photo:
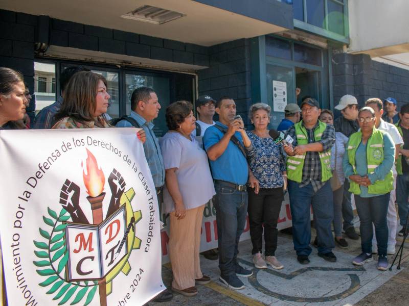
<path id="1" fill-rule="evenodd" d="M 248 157 L 248 163 L 259 180 L 260 188 L 283 187 L 282 173 L 286 171 L 286 167 L 281 144 L 275 144 L 270 137 L 261 138 L 251 131 L 246 133 L 253 145 L 253 155 Z"/>

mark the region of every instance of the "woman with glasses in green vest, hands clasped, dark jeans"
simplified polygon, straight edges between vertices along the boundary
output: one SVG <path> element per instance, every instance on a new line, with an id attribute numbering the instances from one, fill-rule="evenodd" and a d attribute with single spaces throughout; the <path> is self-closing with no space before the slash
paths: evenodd
<path id="1" fill-rule="evenodd" d="M 360 131 L 348 140 L 344 155 L 345 177 L 355 197 L 360 219 L 362 253 L 354 258 L 354 265 L 363 265 L 372 258 L 372 223 L 378 242 L 378 269 L 388 268 L 387 212 L 390 191 L 393 189 L 392 166 L 395 161 L 395 145 L 388 133 L 375 128 L 374 110 L 363 107 L 359 110 Z"/>

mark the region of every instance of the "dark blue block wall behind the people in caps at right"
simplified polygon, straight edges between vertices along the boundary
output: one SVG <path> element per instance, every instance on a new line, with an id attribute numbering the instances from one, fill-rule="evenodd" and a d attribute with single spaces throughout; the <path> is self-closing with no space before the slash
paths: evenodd
<path id="1" fill-rule="evenodd" d="M 344 94 L 354 95 L 360 106 L 372 97 L 394 97 L 409 103 L 409 70 L 373 61 L 366 54 L 334 54 L 332 60 L 334 105 Z"/>

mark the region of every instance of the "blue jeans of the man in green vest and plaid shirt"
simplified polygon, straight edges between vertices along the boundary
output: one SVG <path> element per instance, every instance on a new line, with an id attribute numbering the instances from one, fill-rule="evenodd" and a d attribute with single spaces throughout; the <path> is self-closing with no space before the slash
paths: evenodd
<path id="1" fill-rule="evenodd" d="M 299 187 L 299 183 L 288 180 L 288 193 L 292 218 L 292 241 L 297 255 L 311 254 L 310 207 L 314 213 L 314 224 L 318 238 L 318 252 L 329 253 L 334 245 L 331 223 L 334 216 L 332 189 L 329 181 L 317 192 L 311 184 Z"/>

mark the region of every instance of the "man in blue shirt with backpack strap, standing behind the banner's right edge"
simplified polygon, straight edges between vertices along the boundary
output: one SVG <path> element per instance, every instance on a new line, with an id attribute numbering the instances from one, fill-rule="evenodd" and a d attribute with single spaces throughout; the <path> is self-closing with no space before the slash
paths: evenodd
<path id="1" fill-rule="evenodd" d="M 161 206 L 163 202 L 163 185 L 165 184 L 165 165 L 163 163 L 161 147 L 155 134 L 153 133 L 152 120 L 157 118 L 161 104 L 152 88 L 140 87 L 135 89 L 131 95 L 131 113 L 129 117 L 137 121 L 138 125 L 146 133 L 144 151 L 150 172 L 152 173 L 153 184 L 156 188 L 159 214 L 161 216 Z M 132 127 L 127 120 L 121 120 L 117 127 Z M 166 302 L 173 298 L 173 294 L 168 290 L 158 294 L 152 301 Z"/>

